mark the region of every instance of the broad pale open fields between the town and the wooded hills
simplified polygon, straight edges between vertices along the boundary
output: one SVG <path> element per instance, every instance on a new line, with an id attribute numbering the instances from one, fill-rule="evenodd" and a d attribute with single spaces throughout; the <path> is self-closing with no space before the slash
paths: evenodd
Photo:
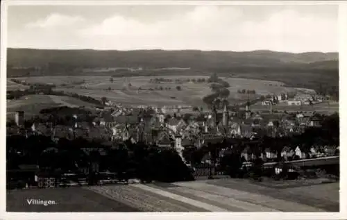
<path id="1" fill-rule="evenodd" d="M 151 83 L 150 79 L 155 76 L 135 76 L 126 78 L 113 78 L 110 82 L 110 76 L 33 76 L 19 78 L 28 83 L 54 83 L 56 90 L 74 92 L 86 96 L 92 96 L 95 99 L 101 99 L 105 96 L 115 103 L 124 103 L 127 105 L 205 105 L 203 97 L 211 94 L 208 83 L 182 83 L 161 82 Z M 163 78 L 208 78 L 208 76 L 164 76 Z M 223 78 L 223 77 L 221 77 Z M 296 91 L 294 87 L 285 87 L 283 83 L 276 81 L 263 81 L 244 78 L 223 78 L 228 81 L 230 87 L 230 103 L 253 99 L 261 94 L 278 94 L 280 92 Z M 78 82 L 82 84 L 76 85 Z M 128 86 L 128 84 L 131 86 Z M 176 86 L 182 88 L 181 91 Z M 163 90 L 155 90 L 155 87 L 163 87 Z M 165 88 L 169 87 L 169 90 Z M 107 91 L 108 88 L 111 91 Z M 141 88 L 142 90 L 138 90 Z M 150 91 L 153 89 L 153 91 Z M 256 95 L 238 94 L 237 90 L 255 90 Z"/>

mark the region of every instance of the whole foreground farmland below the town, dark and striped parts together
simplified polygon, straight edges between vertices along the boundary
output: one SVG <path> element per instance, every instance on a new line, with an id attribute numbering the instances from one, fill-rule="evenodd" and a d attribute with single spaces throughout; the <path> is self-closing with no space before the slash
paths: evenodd
<path id="1" fill-rule="evenodd" d="M 28 205 L 26 198 L 58 205 Z M 12 212 L 338 212 L 339 183 L 276 189 L 243 179 L 148 185 L 23 189 L 7 194 Z"/>

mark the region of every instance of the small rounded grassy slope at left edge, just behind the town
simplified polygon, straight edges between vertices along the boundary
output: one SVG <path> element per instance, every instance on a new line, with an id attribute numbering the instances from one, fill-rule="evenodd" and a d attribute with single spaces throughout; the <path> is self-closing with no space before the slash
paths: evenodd
<path id="1" fill-rule="evenodd" d="M 43 108 L 53 108 L 62 105 L 76 108 L 79 106 L 92 106 L 92 104 L 68 96 L 27 95 L 17 100 L 8 100 L 6 103 L 8 117 L 16 111 L 25 111 L 26 115 L 37 115 Z"/>

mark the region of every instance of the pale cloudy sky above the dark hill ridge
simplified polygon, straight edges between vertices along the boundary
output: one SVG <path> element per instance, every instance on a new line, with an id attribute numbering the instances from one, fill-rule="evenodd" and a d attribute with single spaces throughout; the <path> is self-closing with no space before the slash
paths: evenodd
<path id="1" fill-rule="evenodd" d="M 338 6 L 9 6 L 8 47 L 338 51 Z"/>

